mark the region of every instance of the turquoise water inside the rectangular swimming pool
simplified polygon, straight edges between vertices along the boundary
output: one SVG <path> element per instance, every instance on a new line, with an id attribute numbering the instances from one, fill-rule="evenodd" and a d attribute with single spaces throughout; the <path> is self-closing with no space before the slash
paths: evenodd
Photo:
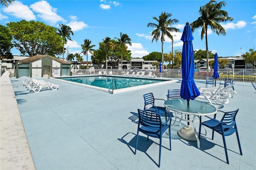
<path id="1" fill-rule="evenodd" d="M 106 89 L 112 89 L 112 82 L 114 82 L 114 89 L 123 89 L 127 87 L 136 87 L 140 85 L 148 85 L 152 83 L 164 82 L 167 80 L 159 79 L 143 79 L 134 77 L 111 77 L 111 76 L 87 76 L 87 77 L 66 77 L 58 78 L 75 83 L 82 83 L 85 85 L 92 85 Z M 115 81 L 113 81 L 115 79 Z"/>

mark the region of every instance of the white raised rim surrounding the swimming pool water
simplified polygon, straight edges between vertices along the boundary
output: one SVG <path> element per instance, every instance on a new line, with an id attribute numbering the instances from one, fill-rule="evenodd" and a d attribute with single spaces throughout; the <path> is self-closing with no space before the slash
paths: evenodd
<path id="1" fill-rule="evenodd" d="M 98 76 L 98 75 L 94 75 L 94 76 Z M 92 77 L 92 75 L 76 76 L 76 78 L 78 78 L 78 77 Z M 126 78 L 126 76 L 111 76 L 111 77 Z M 96 87 L 96 86 L 92 86 L 92 85 L 86 85 L 86 84 L 76 83 L 76 82 L 72 82 L 72 81 L 66 81 L 66 80 L 62 80 L 60 78 L 75 78 L 75 77 L 74 76 L 54 77 L 54 78 L 51 77 L 50 79 L 62 81 L 62 82 L 65 82 L 65 83 L 70 83 L 70 84 L 73 84 L 73 85 L 79 85 L 79 86 L 82 86 L 82 87 L 87 87 L 87 88 L 90 88 L 90 89 L 95 89 L 95 90 L 103 91 L 103 92 L 110 93 L 110 94 L 121 93 L 121 92 L 125 92 L 125 91 L 136 90 L 136 89 L 145 88 L 145 87 L 152 87 L 152 86 L 157 86 L 157 85 L 162 85 L 162 84 L 167 84 L 167 83 L 173 83 L 173 82 L 178 81 L 178 80 L 167 79 L 167 78 L 152 78 L 152 79 L 143 78 L 143 79 L 148 79 L 148 80 L 164 80 L 164 81 L 163 82 L 158 82 L 158 83 L 147 84 L 147 85 L 139 85 L 139 86 L 135 86 L 135 87 L 127 87 L 127 88 L 123 88 L 123 89 L 114 89 L 113 92 L 112 92 L 112 89 L 106 89 L 106 88 L 103 88 L 103 87 Z M 131 78 L 131 77 L 127 77 L 127 78 Z M 132 78 L 142 79 L 141 77 L 132 77 Z"/>

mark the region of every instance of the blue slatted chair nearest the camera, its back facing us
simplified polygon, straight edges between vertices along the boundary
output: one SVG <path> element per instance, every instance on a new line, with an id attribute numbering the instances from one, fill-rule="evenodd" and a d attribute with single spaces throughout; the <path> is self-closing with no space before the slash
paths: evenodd
<path id="1" fill-rule="evenodd" d="M 161 116 L 158 113 L 152 113 L 148 111 L 142 111 L 138 109 L 139 114 L 139 123 L 138 123 L 138 130 L 137 130 L 137 138 L 136 138 L 136 146 L 135 152 L 138 146 L 138 138 L 139 132 L 146 134 L 147 136 L 151 136 L 153 138 L 159 138 L 159 163 L 158 167 L 160 168 L 160 161 L 161 161 L 161 148 L 162 148 L 162 134 L 169 128 L 169 140 L 170 140 L 170 150 L 171 148 L 171 128 L 170 128 L 170 121 L 172 120 L 171 117 L 165 123 L 162 123 Z M 169 125 L 168 125 L 169 123 Z"/>

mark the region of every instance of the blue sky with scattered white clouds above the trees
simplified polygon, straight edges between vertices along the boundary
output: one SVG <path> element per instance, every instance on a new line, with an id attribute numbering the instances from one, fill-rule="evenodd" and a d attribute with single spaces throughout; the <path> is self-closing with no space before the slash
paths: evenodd
<path id="1" fill-rule="evenodd" d="M 68 42 L 69 53 L 80 53 L 84 39 L 92 41 L 98 49 L 99 42 L 105 37 L 120 38 L 120 32 L 127 34 L 132 42 L 128 49 L 132 57 L 143 57 L 153 51 L 161 52 L 161 42 L 152 42 L 151 32 L 154 28 L 147 27 L 149 22 L 156 23 L 152 17 L 159 17 L 165 11 L 172 14 L 171 19 L 179 20 L 172 27 L 180 29 L 174 36 L 174 50 L 182 49 L 180 41 L 186 22 L 193 22 L 200 16 L 200 6 L 208 0 L 15 0 L 8 8 L 1 6 L 0 22 L 34 20 L 59 28 L 65 24 L 72 28 L 73 42 Z M 217 0 L 217 2 L 220 2 Z M 208 48 L 218 56 L 240 56 L 240 54 L 256 47 L 256 1 L 226 0 L 222 8 L 234 20 L 221 23 L 226 36 L 218 36 L 208 29 Z M 193 47 L 205 49 L 205 38 L 200 38 L 201 28 L 193 33 Z M 166 38 L 164 53 L 172 51 L 172 42 Z M 20 55 L 12 49 L 13 55 Z M 62 56 L 60 56 L 62 57 Z M 65 53 L 66 57 L 66 53 Z M 83 56 L 84 61 L 86 56 Z M 88 56 L 88 61 L 91 61 Z"/>

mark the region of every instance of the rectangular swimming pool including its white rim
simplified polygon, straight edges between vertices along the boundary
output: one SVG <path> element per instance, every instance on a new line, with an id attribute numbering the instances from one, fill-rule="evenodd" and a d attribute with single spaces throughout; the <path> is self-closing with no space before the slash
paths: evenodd
<path id="1" fill-rule="evenodd" d="M 120 76 L 83 76 L 83 77 L 58 77 L 60 81 L 106 91 L 113 93 L 113 91 L 121 92 L 131 89 L 138 89 L 140 87 L 148 87 L 151 85 L 159 85 L 163 83 L 170 83 L 170 79 L 148 79 L 139 77 L 120 77 Z"/>

